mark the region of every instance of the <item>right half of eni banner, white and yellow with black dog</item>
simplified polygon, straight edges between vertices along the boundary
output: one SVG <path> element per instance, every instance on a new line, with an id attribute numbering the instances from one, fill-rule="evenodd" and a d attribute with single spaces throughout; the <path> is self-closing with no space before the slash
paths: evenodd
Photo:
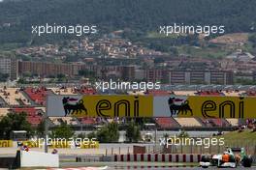
<path id="1" fill-rule="evenodd" d="M 256 118 L 256 98 L 199 96 L 154 97 L 154 116 Z"/>

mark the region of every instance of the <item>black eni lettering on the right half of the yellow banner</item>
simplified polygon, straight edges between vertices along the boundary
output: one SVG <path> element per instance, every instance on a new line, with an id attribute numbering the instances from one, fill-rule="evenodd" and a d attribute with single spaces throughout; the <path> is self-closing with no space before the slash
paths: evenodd
<path id="1" fill-rule="evenodd" d="M 220 104 L 216 104 L 213 100 L 206 100 L 201 107 L 202 115 L 205 118 L 216 118 L 215 116 L 211 116 L 209 112 L 218 111 L 218 118 L 225 117 L 225 108 L 229 108 L 230 110 L 230 118 L 236 118 L 236 113 L 239 112 L 239 118 L 243 118 L 244 113 L 244 101 L 243 97 L 240 98 L 239 101 L 239 109 L 236 110 L 236 104 L 232 100 L 225 100 Z"/>

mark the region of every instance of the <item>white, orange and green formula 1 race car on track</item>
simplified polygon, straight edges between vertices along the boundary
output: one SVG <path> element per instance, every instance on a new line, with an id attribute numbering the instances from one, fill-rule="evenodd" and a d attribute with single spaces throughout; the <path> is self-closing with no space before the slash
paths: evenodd
<path id="1" fill-rule="evenodd" d="M 235 155 L 235 152 L 239 154 Z M 252 157 L 246 156 L 244 148 L 228 148 L 223 154 L 201 156 L 199 164 L 203 168 L 208 166 L 236 168 L 238 165 L 251 167 Z"/>

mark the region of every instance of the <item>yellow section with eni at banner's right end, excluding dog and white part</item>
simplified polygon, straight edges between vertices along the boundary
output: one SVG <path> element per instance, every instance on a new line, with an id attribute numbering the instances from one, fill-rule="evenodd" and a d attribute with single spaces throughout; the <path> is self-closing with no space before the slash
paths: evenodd
<path id="1" fill-rule="evenodd" d="M 256 98 L 250 97 L 189 97 L 183 107 L 194 117 L 256 118 Z"/>

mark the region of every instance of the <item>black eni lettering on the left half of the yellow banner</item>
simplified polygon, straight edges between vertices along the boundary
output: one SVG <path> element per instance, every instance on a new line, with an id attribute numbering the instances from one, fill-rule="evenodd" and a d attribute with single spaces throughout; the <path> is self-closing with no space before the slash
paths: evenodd
<path id="1" fill-rule="evenodd" d="M 123 116 L 130 117 L 131 113 L 133 113 L 134 117 L 139 117 L 139 103 L 139 97 L 137 96 L 132 101 L 127 99 L 119 99 L 114 103 L 108 99 L 101 99 L 96 104 L 96 112 L 100 117 L 111 117 L 111 115 L 105 114 L 104 111 L 112 110 L 113 116 L 118 117 L 120 116 L 121 107 L 124 107 L 125 114 Z M 132 106 L 134 108 L 133 110 L 131 109 Z"/>

